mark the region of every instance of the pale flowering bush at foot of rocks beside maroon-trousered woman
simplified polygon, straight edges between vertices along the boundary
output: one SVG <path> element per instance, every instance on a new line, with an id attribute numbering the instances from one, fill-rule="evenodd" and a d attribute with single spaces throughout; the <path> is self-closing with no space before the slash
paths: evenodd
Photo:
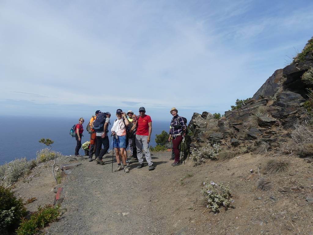
<path id="1" fill-rule="evenodd" d="M 213 144 L 211 146 L 208 144 L 206 147 L 200 149 L 193 148 L 191 149 L 190 159 L 192 159 L 194 165 L 200 165 L 205 162 L 206 159 L 217 160 L 218 153 L 221 151 L 221 146 L 219 144 Z"/>

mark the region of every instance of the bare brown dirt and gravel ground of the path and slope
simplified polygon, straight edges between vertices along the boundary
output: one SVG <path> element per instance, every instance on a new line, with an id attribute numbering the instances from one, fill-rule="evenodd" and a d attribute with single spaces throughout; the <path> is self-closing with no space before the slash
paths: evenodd
<path id="1" fill-rule="evenodd" d="M 191 161 L 172 167 L 170 153 L 153 153 L 156 169 L 111 173 L 112 155 L 105 165 L 81 161 L 59 186 L 64 187 L 62 207 L 67 211 L 45 229 L 47 235 L 74 234 L 305 234 L 313 235 L 312 163 L 297 157 L 286 172 L 266 174 L 260 170 L 267 155 L 243 154 L 226 161 L 212 161 L 193 167 Z M 59 159 L 58 164 L 69 158 Z M 116 163 L 115 163 L 116 164 Z M 19 181 L 15 191 L 23 199 L 37 197 L 27 205 L 53 202 L 50 162 L 34 169 Z M 114 165 L 115 167 L 116 165 Z M 254 170 L 251 173 L 250 170 Z M 29 180 L 31 179 L 32 180 Z M 258 180 L 270 180 L 270 191 L 257 188 Z M 229 185 L 234 208 L 213 214 L 206 210 L 200 191 L 203 181 Z M 25 181 L 25 182 L 24 182 Z"/>

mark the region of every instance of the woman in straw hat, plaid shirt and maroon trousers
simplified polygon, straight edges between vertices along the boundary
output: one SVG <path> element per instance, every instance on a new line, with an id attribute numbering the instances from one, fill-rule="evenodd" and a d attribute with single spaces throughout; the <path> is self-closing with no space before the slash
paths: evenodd
<path id="1" fill-rule="evenodd" d="M 172 163 L 172 166 L 181 165 L 179 160 L 179 149 L 178 146 L 182 142 L 182 138 L 186 135 L 186 123 L 184 122 L 183 118 L 178 116 L 178 111 L 175 107 L 173 107 L 170 111 L 173 115 L 171 121 L 171 129 L 170 129 L 170 136 L 168 138 L 168 142 L 173 142 L 173 150 L 175 153 L 175 161 Z"/>

